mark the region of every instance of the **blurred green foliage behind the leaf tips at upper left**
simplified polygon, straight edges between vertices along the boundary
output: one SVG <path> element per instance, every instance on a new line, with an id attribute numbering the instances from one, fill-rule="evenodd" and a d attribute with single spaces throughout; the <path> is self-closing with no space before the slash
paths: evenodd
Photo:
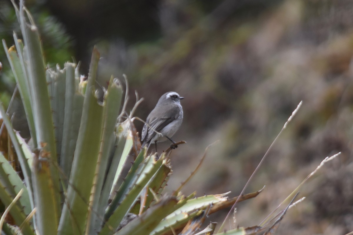
<path id="1" fill-rule="evenodd" d="M 20 35 L 19 24 L 11 1 L 0 0 L 0 6 L 0 38 L 5 39 L 11 46 L 13 44 L 12 33 L 16 32 Z M 26 6 L 33 12 L 37 26 L 42 32 L 42 43 L 44 54 L 48 60 L 47 63 L 50 64 L 56 61 L 62 67 L 66 61 L 72 60 L 74 39 L 68 35 L 66 27 L 50 14 L 44 2 L 28 1 Z M 0 78 L 1 101 L 8 104 L 6 100 L 10 99 L 16 82 L 2 46 L 0 62 L 3 66 Z M 50 65 L 52 66 L 53 64 Z"/>

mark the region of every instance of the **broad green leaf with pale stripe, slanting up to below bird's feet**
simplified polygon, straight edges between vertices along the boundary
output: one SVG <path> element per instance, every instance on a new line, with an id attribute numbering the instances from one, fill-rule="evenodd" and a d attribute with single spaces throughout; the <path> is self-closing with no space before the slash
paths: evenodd
<path id="1" fill-rule="evenodd" d="M 149 160 L 149 158 L 152 158 L 152 157 L 148 156 L 146 160 Z M 106 224 L 104 224 L 104 227 L 100 235 L 113 234 L 115 232 L 115 229 L 118 228 L 122 218 L 124 218 L 127 212 L 129 212 L 130 209 L 133 207 L 140 193 L 150 182 L 153 175 L 157 172 L 158 168 L 161 165 L 162 165 L 162 161 L 156 161 L 153 167 L 149 168 L 149 171 L 143 172 L 140 179 L 137 181 L 138 183 L 133 186 L 130 192 L 128 192 L 125 199 L 122 200 L 118 208 L 116 208 L 112 216 L 110 216 Z"/>

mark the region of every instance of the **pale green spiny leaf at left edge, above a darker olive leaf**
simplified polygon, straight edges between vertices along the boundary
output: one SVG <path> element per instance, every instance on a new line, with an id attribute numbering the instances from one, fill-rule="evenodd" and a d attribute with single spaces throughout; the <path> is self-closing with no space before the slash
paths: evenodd
<path id="1" fill-rule="evenodd" d="M 22 196 L 19 198 L 19 202 L 23 207 L 24 213 L 28 215 L 31 212 L 31 204 L 29 201 L 29 195 L 26 187 L 22 183 L 22 180 L 12 168 L 10 163 L 5 159 L 4 155 L 0 153 L 0 181 L 2 185 L 7 188 L 7 192 L 12 198 L 16 197 L 19 191 L 22 189 Z"/>

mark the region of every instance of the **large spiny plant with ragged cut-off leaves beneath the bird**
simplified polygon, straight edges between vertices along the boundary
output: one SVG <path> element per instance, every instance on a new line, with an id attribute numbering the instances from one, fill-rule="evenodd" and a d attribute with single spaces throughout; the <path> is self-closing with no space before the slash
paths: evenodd
<path id="1" fill-rule="evenodd" d="M 80 78 L 75 63 L 47 67 L 31 14 L 23 1 L 14 7 L 23 40 L 14 33 L 14 45 L 3 44 L 31 140 L 13 130 L 1 104 L 6 127 L 1 138 L 13 146 L 1 146 L 0 153 L 0 201 L 6 208 L 1 234 L 196 234 L 208 214 L 237 200 L 226 194 L 185 196 L 181 187 L 162 193 L 172 173 L 172 150 L 156 160 L 141 148 L 133 112 L 125 112 L 127 89 L 118 79 L 110 78 L 103 100 L 97 98 L 97 49 L 87 79 Z M 134 161 L 123 176 L 129 156 Z M 13 158 L 21 174 L 9 162 Z M 213 234 L 214 227 L 210 224 L 202 234 Z M 226 234 L 244 233 L 238 228 Z"/>

